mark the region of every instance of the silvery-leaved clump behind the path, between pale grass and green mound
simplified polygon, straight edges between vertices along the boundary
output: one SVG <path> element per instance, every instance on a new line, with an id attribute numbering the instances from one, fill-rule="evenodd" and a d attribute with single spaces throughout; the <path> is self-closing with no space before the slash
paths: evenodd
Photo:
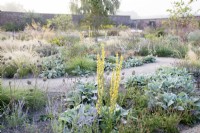
<path id="1" fill-rule="evenodd" d="M 56 78 L 65 74 L 65 64 L 59 55 L 44 58 L 42 67 L 40 77 Z"/>

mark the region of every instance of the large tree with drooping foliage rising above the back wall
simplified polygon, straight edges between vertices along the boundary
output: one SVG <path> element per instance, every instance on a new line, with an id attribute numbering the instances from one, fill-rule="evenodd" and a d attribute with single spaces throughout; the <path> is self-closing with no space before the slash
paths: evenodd
<path id="1" fill-rule="evenodd" d="M 119 6 L 119 0 L 71 0 L 70 10 L 73 14 L 84 15 L 84 22 L 98 29 Z"/>

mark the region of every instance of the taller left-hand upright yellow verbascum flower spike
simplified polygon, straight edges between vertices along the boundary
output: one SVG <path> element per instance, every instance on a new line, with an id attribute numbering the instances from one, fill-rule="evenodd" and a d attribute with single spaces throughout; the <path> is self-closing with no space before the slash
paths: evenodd
<path id="1" fill-rule="evenodd" d="M 97 112 L 101 114 L 101 107 L 103 106 L 103 93 L 104 93 L 104 61 L 105 51 L 102 45 L 101 56 L 97 55 L 97 86 L 98 86 L 98 100 L 96 103 Z"/>

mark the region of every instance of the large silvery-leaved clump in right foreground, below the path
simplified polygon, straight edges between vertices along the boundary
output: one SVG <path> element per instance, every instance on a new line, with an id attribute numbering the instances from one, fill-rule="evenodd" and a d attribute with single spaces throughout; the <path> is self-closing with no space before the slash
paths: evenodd
<path id="1" fill-rule="evenodd" d="M 199 98 L 195 95 L 193 79 L 185 69 L 161 68 L 152 76 L 133 76 L 126 88 L 145 88 L 149 98 L 148 107 L 162 107 L 164 110 L 198 110 Z"/>

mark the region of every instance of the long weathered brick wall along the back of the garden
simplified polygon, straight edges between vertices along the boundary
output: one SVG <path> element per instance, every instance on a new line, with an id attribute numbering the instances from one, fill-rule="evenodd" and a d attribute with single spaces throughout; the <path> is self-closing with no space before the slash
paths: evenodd
<path id="1" fill-rule="evenodd" d="M 31 15 L 37 16 L 41 19 L 42 22 L 45 22 L 47 19 L 53 18 L 56 14 L 44 14 L 44 13 L 21 13 L 21 12 L 0 12 L 0 26 L 12 22 L 15 24 L 20 24 L 24 22 L 24 19 Z M 83 19 L 83 15 L 72 15 L 72 20 L 74 23 L 79 23 Z M 123 24 L 137 29 L 144 29 L 145 27 L 160 27 L 162 26 L 162 21 L 167 20 L 167 18 L 155 18 L 155 19 L 135 19 L 132 20 L 130 16 L 122 15 L 113 15 L 109 16 L 115 24 Z M 200 20 L 200 16 L 196 16 Z"/>

